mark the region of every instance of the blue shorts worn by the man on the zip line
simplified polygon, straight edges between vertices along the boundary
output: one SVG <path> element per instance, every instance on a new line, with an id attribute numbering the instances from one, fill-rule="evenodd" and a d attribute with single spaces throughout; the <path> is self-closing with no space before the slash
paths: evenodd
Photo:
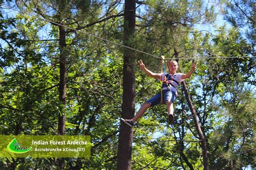
<path id="1" fill-rule="evenodd" d="M 166 101 L 174 102 L 176 95 L 173 91 L 170 89 L 162 90 L 163 91 L 163 103 L 165 104 Z M 149 100 L 147 100 L 145 103 L 151 103 L 151 107 L 157 104 L 160 104 L 161 102 L 161 92 L 151 97 Z"/>

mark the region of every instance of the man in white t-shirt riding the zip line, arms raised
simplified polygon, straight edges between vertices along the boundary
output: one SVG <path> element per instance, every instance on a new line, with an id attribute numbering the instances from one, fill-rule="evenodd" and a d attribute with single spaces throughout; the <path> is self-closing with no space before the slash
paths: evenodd
<path id="1" fill-rule="evenodd" d="M 174 60 L 171 60 L 169 62 L 170 73 L 153 73 L 151 72 L 151 70 L 145 67 L 142 60 L 138 62 L 140 69 L 144 70 L 147 75 L 163 82 L 161 88 L 162 91 L 151 97 L 145 103 L 143 103 L 137 114 L 132 119 L 121 118 L 121 120 L 132 128 L 134 123 L 138 120 L 138 118 L 142 117 L 147 108 L 153 107 L 154 105 L 161 103 L 166 104 L 169 119 L 168 123 L 173 124 L 173 102 L 177 96 L 178 86 L 181 82 L 183 82 L 185 79 L 192 75 L 192 73 L 196 69 L 196 62 L 193 62 L 192 68 L 187 74 L 176 73 L 178 69 L 178 63 Z"/>

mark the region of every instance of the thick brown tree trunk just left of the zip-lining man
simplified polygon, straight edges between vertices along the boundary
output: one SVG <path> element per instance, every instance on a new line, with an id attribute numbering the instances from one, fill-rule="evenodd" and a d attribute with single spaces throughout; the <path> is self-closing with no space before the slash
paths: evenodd
<path id="1" fill-rule="evenodd" d="M 124 11 L 124 44 L 129 44 L 129 39 L 135 30 L 135 1 L 125 0 Z M 123 104 L 121 116 L 131 119 L 135 108 L 135 59 L 131 51 L 124 51 L 123 66 Z M 118 142 L 117 169 L 131 169 L 133 130 L 121 122 Z"/>

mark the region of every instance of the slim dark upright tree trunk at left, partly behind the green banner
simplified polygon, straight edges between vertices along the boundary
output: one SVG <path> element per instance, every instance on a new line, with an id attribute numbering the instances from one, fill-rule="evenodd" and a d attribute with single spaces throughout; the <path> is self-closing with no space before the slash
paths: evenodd
<path id="1" fill-rule="evenodd" d="M 59 26 L 59 101 L 60 110 L 58 115 L 58 132 L 65 134 L 65 105 L 66 105 L 66 33 L 63 26 Z M 64 158 L 59 158 L 59 168 L 64 169 Z"/>

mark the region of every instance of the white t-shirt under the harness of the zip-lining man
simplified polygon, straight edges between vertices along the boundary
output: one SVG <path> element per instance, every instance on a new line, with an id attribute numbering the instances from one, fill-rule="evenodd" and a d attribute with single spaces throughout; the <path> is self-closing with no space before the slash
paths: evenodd
<path id="1" fill-rule="evenodd" d="M 166 80 L 173 85 L 171 86 L 171 90 L 177 94 L 177 89 L 179 84 L 184 81 L 184 79 L 181 79 L 181 76 L 184 74 L 183 73 L 176 73 L 176 74 L 159 73 L 158 75 L 161 76 L 161 79 L 162 79 L 161 81 L 164 81 L 164 77 L 166 76 Z"/>

